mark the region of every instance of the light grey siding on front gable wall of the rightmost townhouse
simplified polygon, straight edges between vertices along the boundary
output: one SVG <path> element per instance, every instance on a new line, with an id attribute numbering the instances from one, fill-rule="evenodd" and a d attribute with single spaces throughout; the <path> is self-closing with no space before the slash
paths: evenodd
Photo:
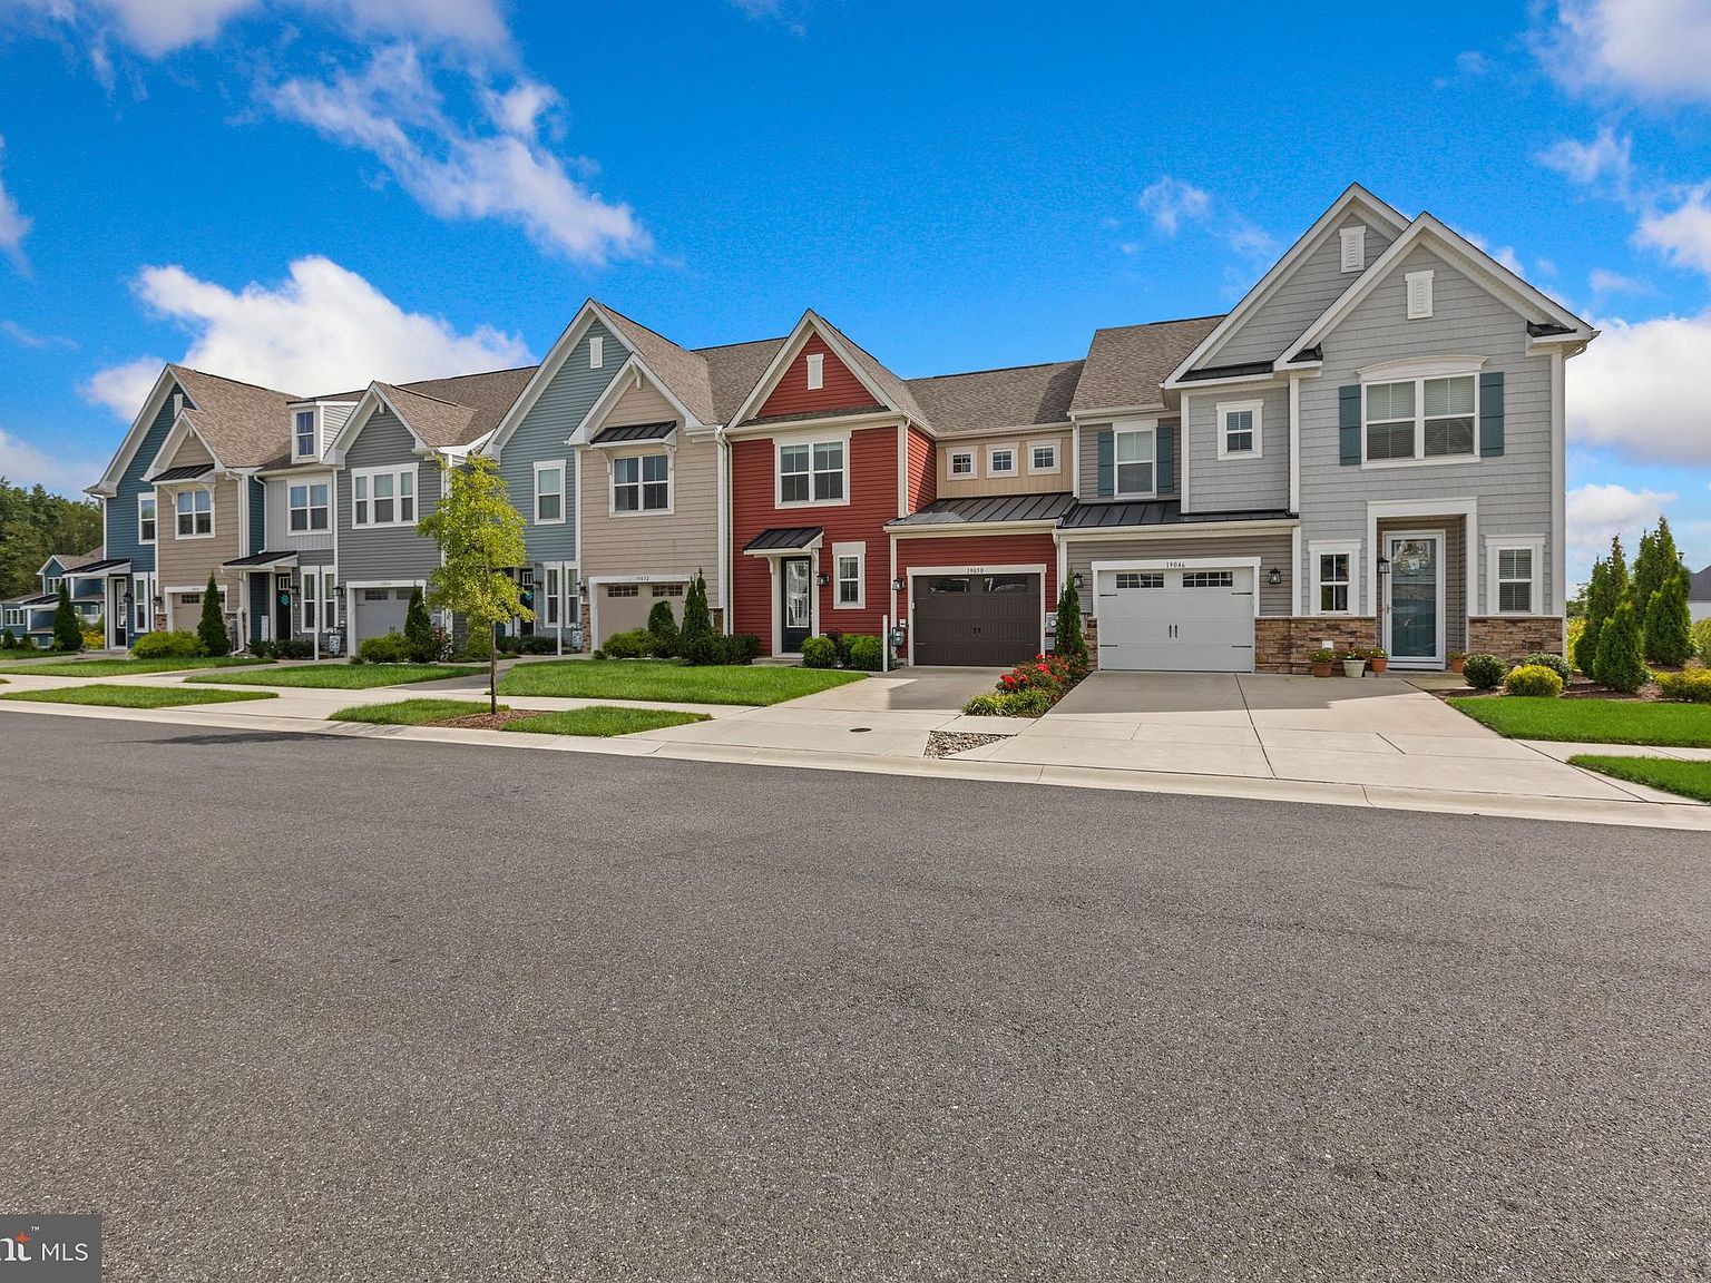
<path id="1" fill-rule="evenodd" d="M 1406 318 L 1405 277 L 1430 270 L 1432 316 Z M 1430 511 L 1437 500 L 1475 500 L 1473 614 L 1483 611 L 1485 556 L 1492 541 L 1543 539 L 1543 602 L 1554 602 L 1550 541 L 1552 486 L 1550 358 L 1526 352 L 1526 323 L 1504 303 L 1451 267 L 1429 246 L 1393 265 L 1384 281 L 1324 339 L 1324 370 L 1300 385 L 1302 547 L 1314 541 L 1360 541 L 1360 600 L 1372 597 L 1374 551 L 1365 547 L 1367 503 L 1410 501 Z M 1504 453 L 1459 464 L 1357 467 L 1341 464 L 1338 388 L 1357 371 L 1412 356 L 1483 356 L 1482 371 L 1504 376 Z M 1418 520 L 1418 525 L 1434 525 Z M 1547 611 L 1548 612 L 1548 611 Z"/>

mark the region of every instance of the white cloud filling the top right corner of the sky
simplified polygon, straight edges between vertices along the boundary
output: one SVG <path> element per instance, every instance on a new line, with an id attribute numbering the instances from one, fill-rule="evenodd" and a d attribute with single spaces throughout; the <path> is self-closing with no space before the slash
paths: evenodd
<path id="1" fill-rule="evenodd" d="M 1571 92 L 1711 101 L 1711 5 L 1704 0 L 1559 0 L 1555 21 L 1533 43 Z"/>

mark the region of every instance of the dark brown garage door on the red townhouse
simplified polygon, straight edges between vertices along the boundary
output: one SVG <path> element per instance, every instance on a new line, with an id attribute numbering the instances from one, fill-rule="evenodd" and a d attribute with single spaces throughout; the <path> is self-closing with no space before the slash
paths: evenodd
<path id="1" fill-rule="evenodd" d="M 1040 652 L 1039 575 L 915 575 L 915 664 L 1008 667 Z"/>

